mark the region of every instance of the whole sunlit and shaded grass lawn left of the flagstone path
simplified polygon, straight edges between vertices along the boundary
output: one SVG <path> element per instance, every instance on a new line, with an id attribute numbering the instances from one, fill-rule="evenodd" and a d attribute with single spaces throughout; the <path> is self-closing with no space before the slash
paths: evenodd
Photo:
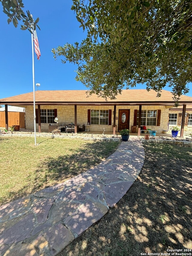
<path id="1" fill-rule="evenodd" d="M 0 137 L 0 205 L 64 182 L 115 152 L 119 142 Z"/>

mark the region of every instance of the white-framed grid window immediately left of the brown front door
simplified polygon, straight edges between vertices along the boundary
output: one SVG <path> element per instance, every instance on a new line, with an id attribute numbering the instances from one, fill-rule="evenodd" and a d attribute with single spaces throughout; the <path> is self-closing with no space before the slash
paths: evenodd
<path id="1" fill-rule="evenodd" d="M 91 110 L 91 125 L 108 125 L 109 110 Z"/>

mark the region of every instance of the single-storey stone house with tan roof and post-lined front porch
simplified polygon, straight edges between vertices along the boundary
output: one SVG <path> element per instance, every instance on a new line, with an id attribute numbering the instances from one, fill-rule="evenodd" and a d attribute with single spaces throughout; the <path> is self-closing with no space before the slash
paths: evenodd
<path id="1" fill-rule="evenodd" d="M 131 136 L 144 136 L 140 134 L 141 126 L 157 131 L 157 136 L 170 137 L 170 133 L 163 134 L 167 130 L 169 122 L 169 109 L 175 104 L 171 92 L 162 90 L 161 98 L 157 98 L 155 91 L 146 90 L 122 90 L 116 99 L 106 99 L 98 95 L 87 95 L 86 91 L 37 91 L 33 93 L 16 95 L 0 100 L 5 105 L 5 125 L 9 128 L 8 105 L 25 107 L 25 127 L 33 131 L 35 126 L 39 133 L 49 131 L 49 125 L 74 125 L 74 133 L 78 132 L 78 126 L 90 125 L 89 134 L 112 134 L 117 131 L 137 126 L 137 134 Z M 179 105 L 182 106 L 180 115 L 180 137 L 184 137 L 186 106 L 192 105 L 192 97 L 181 96 Z M 173 120 L 174 121 L 174 120 Z M 172 122 L 172 121 L 171 121 Z M 58 127 L 57 127 L 58 128 Z M 72 131 L 72 129 L 71 129 Z M 86 131 L 86 130 L 85 130 Z"/>

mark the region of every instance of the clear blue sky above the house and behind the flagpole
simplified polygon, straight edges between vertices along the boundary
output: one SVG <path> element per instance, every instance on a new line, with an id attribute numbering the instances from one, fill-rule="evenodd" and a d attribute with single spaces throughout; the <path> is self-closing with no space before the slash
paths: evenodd
<path id="1" fill-rule="evenodd" d="M 40 83 L 39 90 L 86 90 L 87 88 L 74 79 L 77 68 L 74 64 L 62 64 L 60 59 L 53 58 L 52 48 L 66 43 L 73 44 L 86 37 L 79 28 L 74 11 L 71 11 L 72 0 L 40 1 L 23 0 L 25 9 L 29 10 L 34 20 L 39 17 L 37 29 L 41 51 L 40 60 L 35 57 L 35 84 Z M 0 15 L 0 98 L 19 95 L 33 91 L 32 80 L 32 42 L 31 33 L 22 31 L 20 25 L 15 28 L 7 24 L 7 16 Z M 192 84 L 189 84 L 192 87 Z M 144 85 L 136 89 L 145 89 Z M 170 88 L 165 88 L 171 91 Z M 35 90 L 37 87 L 35 86 Z M 187 94 L 192 96 L 192 89 Z"/>

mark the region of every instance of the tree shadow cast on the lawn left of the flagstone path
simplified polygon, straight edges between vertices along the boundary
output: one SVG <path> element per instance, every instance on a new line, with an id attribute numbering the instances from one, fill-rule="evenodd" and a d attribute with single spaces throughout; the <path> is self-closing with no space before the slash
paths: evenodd
<path id="1" fill-rule="evenodd" d="M 113 154 L 118 145 L 119 142 L 85 143 L 79 149 L 67 149 L 67 154 L 63 151 L 56 158 L 46 158 L 35 171 L 35 180 L 33 184 L 30 184 L 30 188 L 29 185 L 23 186 L 16 192 L 10 191 L 8 196 L 11 200 L 16 200 L 26 195 L 26 191 L 30 194 L 48 186 L 64 182 L 99 164 L 103 159 Z M 32 173 L 33 175 L 34 173 Z M 32 179 L 31 176 L 28 179 L 30 181 Z M 3 198 L 0 199 L 2 203 L 7 202 Z"/>

